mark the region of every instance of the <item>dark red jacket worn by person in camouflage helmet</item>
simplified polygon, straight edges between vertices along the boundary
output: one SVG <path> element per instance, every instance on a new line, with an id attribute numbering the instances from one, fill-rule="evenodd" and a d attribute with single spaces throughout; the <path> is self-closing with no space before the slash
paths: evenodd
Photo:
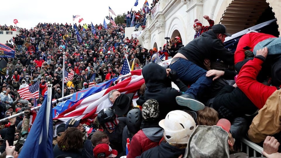
<path id="1" fill-rule="evenodd" d="M 159 142 L 153 142 L 143 133 L 143 130 L 139 130 L 136 133 L 130 144 L 130 151 L 127 155 L 127 158 L 135 158 L 140 156 L 143 152 L 153 147 L 156 147 Z"/>

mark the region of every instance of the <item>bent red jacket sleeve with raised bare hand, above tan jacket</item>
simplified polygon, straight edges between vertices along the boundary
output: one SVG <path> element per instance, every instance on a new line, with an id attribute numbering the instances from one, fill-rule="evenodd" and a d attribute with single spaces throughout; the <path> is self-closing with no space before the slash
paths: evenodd
<path id="1" fill-rule="evenodd" d="M 272 95 L 277 87 L 267 86 L 259 83 L 256 78 L 261 71 L 263 61 L 257 57 L 249 60 L 240 70 L 236 80 L 237 86 L 245 93 L 245 95 L 261 109 L 266 100 Z"/>

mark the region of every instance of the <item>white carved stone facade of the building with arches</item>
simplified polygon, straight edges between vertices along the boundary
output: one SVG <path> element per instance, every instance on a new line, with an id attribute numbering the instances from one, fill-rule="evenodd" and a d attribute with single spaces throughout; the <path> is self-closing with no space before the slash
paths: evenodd
<path id="1" fill-rule="evenodd" d="M 203 25 L 209 25 L 208 21 L 203 18 L 204 15 L 208 15 L 215 21 L 215 24 L 218 24 L 232 1 L 160 0 L 154 19 L 151 18 L 151 15 L 147 16 L 146 28 L 138 39 L 145 48 L 153 48 L 156 42 L 157 49 L 159 49 L 166 43 L 164 37 L 171 37 L 174 30 L 178 30 L 185 45 L 194 38 L 194 19 L 197 18 Z M 277 24 L 281 25 L 281 0 L 266 0 L 266 2 L 273 8 Z"/>

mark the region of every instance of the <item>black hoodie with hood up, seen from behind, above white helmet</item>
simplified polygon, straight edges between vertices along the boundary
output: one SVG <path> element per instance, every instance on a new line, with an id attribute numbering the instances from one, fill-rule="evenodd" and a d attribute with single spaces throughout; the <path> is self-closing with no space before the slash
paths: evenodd
<path id="1" fill-rule="evenodd" d="M 183 109 L 176 102 L 176 97 L 182 93 L 171 86 L 171 80 L 167 78 L 166 69 L 157 63 L 145 65 L 142 69 L 145 80 L 145 100 L 155 99 L 159 103 L 160 119 L 165 119 L 168 112 Z"/>

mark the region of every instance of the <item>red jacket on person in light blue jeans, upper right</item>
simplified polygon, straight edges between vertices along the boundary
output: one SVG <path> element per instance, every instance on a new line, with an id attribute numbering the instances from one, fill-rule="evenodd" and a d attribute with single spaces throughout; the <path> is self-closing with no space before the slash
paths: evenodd
<path id="1" fill-rule="evenodd" d="M 248 46 L 250 47 L 249 50 L 253 51 L 254 47 L 258 44 L 258 42 L 261 42 L 268 38 L 275 38 L 275 36 L 256 32 L 251 32 L 246 35 L 243 35 L 237 44 L 237 48 L 234 54 L 234 64 L 244 60 L 246 51 L 244 47 Z"/>

